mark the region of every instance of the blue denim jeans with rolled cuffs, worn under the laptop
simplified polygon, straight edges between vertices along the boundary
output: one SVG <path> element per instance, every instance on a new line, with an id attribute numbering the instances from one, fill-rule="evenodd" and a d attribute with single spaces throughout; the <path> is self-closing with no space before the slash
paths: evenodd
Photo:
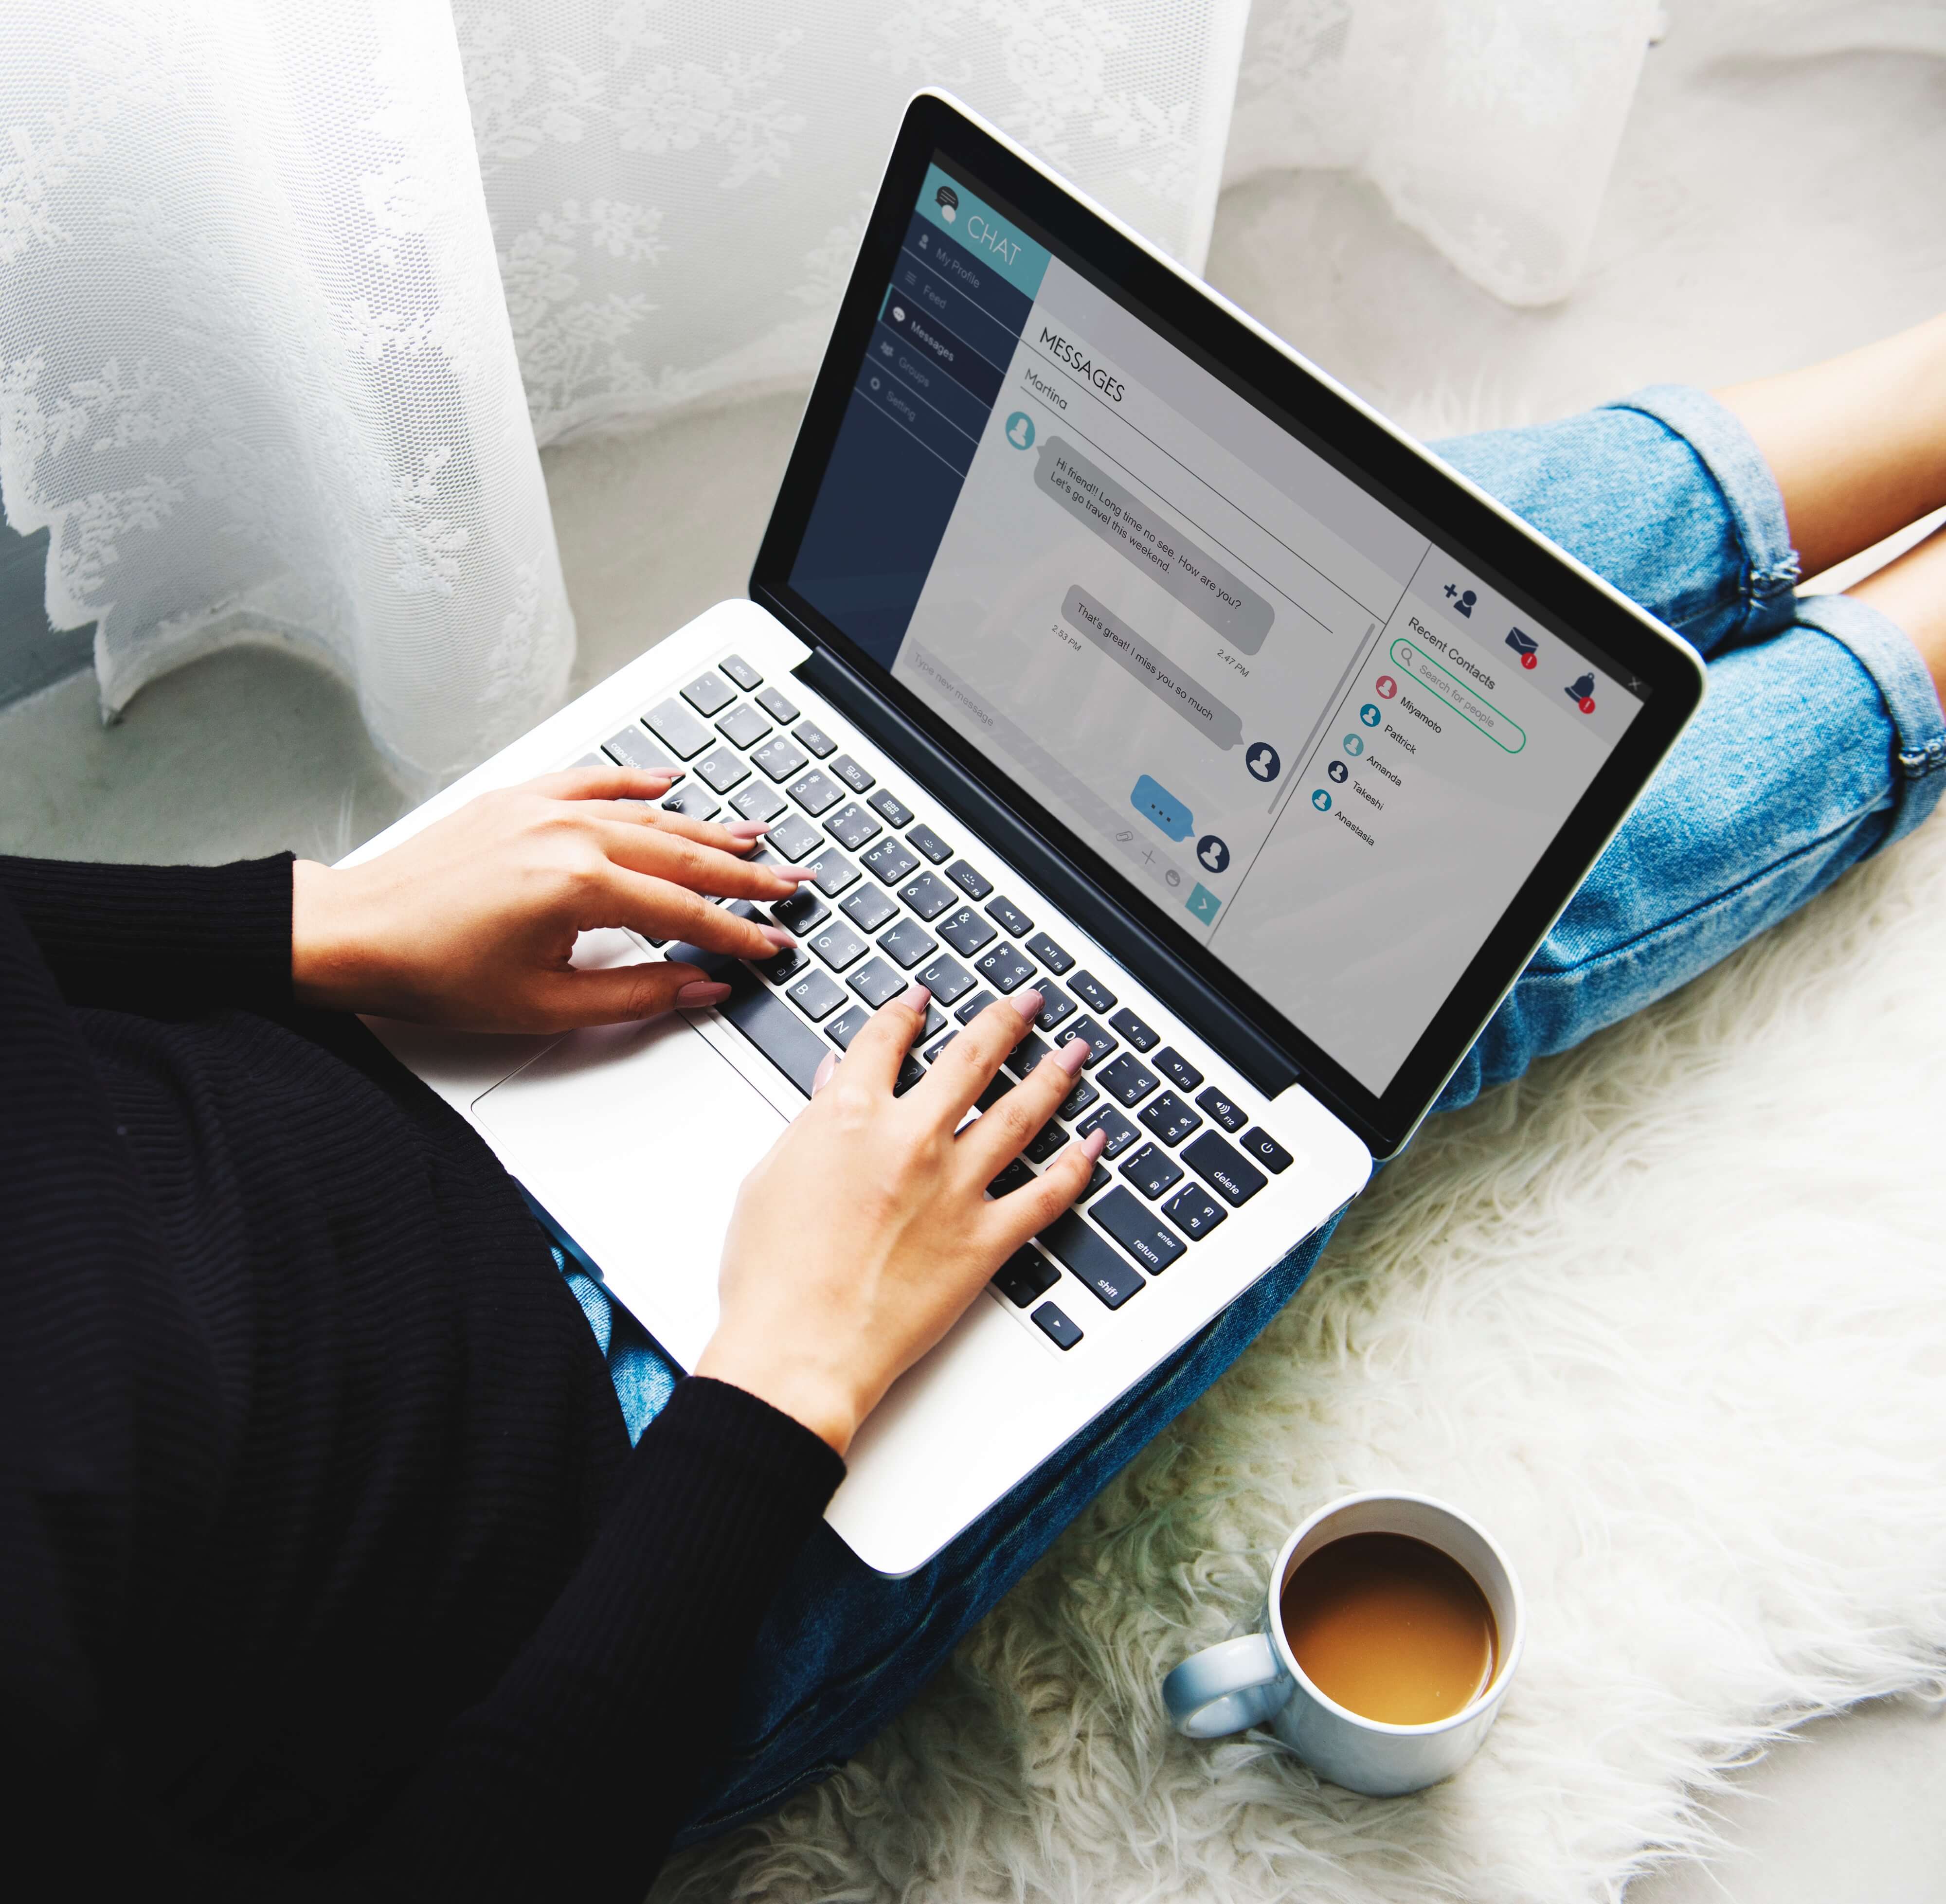
<path id="1" fill-rule="evenodd" d="M 1843 596 L 1796 598 L 1777 485 L 1701 391 L 1648 389 L 1440 450 L 1691 641 L 1711 674 L 1697 720 L 1442 1092 L 1450 1110 L 1674 991 L 1911 831 L 1946 787 L 1946 724 L 1899 629 Z M 819 1526 L 751 1655 L 732 1756 L 679 1842 L 773 1809 L 856 1752 L 1242 1355 L 1327 1240 L 1298 1244 L 909 1579 L 872 1573 Z"/>

